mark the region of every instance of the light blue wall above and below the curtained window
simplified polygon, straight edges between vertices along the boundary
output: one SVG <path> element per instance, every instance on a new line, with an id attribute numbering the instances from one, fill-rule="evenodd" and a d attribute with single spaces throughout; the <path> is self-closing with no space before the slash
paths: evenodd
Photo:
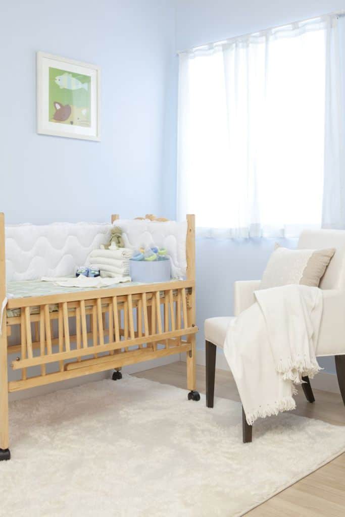
<path id="1" fill-rule="evenodd" d="M 345 9 L 345 0 L 177 0 L 176 50 L 247 34 L 292 21 Z M 203 322 L 233 314 L 235 280 L 260 279 L 274 239 L 197 240 L 198 347 L 204 346 Z M 296 241 L 281 241 L 294 247 Z M 321 359 L 335 373 L 333 358 Z"/>

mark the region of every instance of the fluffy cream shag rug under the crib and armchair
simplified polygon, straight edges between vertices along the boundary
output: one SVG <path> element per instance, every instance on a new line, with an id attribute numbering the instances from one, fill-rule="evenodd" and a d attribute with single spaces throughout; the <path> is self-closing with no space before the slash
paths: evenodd
<path id="1" fill-rule="evenodd" d="M 235 517 L 345 450 L 345 433 L 280 414 L 242 443 L 241 405 L 124 375 L 10 404 L 0 515 Z"/>

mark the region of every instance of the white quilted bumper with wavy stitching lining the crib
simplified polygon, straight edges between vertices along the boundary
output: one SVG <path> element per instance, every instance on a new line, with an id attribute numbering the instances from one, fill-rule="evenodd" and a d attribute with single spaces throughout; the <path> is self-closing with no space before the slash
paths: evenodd
<path id="1" fill-rule="evenodd" d="M 122 228 L 126 247 L 164 247 L 171 257 L 172 276 L 186 275 L 187 222 L 119 219 L 114 225 Z M 7 225 L 7 281 L 73 275 L 78 266 L 86 263 L 92 250 L 107 244 L 110 230 L 110 223 Z"/>

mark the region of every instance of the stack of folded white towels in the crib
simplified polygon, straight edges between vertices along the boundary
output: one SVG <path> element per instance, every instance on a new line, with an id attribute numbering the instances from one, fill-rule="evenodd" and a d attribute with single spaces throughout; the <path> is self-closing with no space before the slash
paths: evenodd
<path id="1" fill-rule="evenodd" d="M 100 269 L 100 275 L 106 277 L 118 277 L 129 275 L 129 259 L 133 255 L 128 248 L 117 250 L 93 250 L 88 256 L 88 263 Z"/>

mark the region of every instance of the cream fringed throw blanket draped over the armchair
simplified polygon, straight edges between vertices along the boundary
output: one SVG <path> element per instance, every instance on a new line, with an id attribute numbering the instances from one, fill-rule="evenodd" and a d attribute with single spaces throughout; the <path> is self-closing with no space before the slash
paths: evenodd
<path id="1" fill-rule="evenodd" d="M 296 407 L 295 384 L 320 367 L 323 298 L 318 287 L 285 285 L 256 291 L 256 302 L 229 325 L 224 354 L 249 425 Z"/>

